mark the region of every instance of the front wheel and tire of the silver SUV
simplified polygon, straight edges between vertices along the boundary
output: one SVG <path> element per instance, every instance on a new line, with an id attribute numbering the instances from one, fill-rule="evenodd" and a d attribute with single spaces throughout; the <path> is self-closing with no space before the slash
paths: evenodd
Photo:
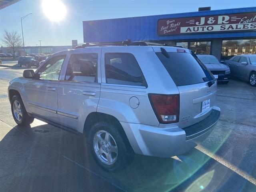
<path id="1" fill-rule="evenodd" d="M 28 113 L 19 95 L 14 95 L 12 97 L 11 110 L 14 121 L 20 126 L 27 126 L 34 121 L 34 118 L 28 116 Z"/>

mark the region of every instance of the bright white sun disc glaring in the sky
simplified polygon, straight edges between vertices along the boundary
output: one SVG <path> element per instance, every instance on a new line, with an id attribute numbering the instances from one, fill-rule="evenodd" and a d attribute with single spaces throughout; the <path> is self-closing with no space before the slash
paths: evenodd
<path id="1" fill-rule="evenodd" d="M 43 0 L 44 14 L 52 21 L 58 22 L 66 16 L 66 6 L 60 0 Z"/>

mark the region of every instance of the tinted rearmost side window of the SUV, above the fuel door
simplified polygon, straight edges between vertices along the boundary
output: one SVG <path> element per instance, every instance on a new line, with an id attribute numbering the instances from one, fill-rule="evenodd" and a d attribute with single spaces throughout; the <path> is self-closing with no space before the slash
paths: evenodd
<path id="1" fill-rule="evenodd" d="M 106 83 L 146 86 L 138 62 L 130 53 L 105 54 Z"/>

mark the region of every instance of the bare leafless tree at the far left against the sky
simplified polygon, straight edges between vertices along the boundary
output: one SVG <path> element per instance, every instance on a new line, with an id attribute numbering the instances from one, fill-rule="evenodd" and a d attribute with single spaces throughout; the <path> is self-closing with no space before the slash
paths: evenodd
<path id="1" fill-rule="evenodd" d="M 12 48 L 13 56 L 15 58 L 15 50 L 22 46 L 20 34 L 18 34 L 16 31 L 8 32 L 7 30 L 4 30 L 2 42 L 6 47 Z"/>

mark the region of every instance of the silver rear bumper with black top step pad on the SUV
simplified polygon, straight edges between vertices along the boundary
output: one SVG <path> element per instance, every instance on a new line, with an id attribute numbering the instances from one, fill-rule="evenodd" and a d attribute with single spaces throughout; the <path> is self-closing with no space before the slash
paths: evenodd
<path id="1" fill-rule="evenodd" d="M 186 128 L 156 128 L 144 124 L 120 122 L 136 154 L 171 157 L 187 152 L 205 140 L 220 117 L 220 108 L 214 107 L 211 114 Z"/>

